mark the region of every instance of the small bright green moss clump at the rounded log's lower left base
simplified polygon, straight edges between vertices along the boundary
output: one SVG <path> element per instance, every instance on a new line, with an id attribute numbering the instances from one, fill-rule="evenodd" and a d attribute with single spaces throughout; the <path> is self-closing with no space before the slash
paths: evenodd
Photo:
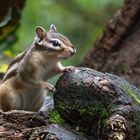
<path id="1" fill-rule="evenodd" d="M 57 124 L 65 123 L 64 119 L 61 117 L 61 115 L 56 110 L 51 112 L 51 114 L 49 116 L 50 116 L 51 123 L 57 123 Z"/>

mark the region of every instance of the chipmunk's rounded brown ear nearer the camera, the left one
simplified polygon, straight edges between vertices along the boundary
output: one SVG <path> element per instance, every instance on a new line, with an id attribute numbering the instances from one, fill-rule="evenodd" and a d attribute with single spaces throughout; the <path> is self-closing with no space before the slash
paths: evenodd
<path id="1" fill-rule="evenodd" d="M 46 36 L 46 31 L 41 26 L 37 26 L 35 30 L 37 37 L 39 37 L 40 39 L 43 39 Z"/>

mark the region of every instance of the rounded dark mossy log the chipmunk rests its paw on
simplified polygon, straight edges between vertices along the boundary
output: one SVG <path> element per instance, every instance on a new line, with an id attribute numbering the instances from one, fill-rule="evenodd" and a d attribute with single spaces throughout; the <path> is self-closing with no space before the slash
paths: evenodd
<path id="1" fill-rule="evenodd" d="M 64 73 L 54 106 L 70 123 L 96 138 L 140 139 L 140 91 L 122 78 L 89 68 Z"/>

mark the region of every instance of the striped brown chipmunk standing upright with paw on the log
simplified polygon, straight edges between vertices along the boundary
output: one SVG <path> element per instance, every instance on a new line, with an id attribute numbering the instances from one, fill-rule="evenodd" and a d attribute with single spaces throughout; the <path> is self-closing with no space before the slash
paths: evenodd
<path id="1" fill-rule="evenodd" d="M 54 25 L 49 32 L 41 26 L 35 31 L 34 41 L 11 61 L 1 82 L 2 111 L 38 111 L 44 102 L 44 89 L 55 92 L 54 86 L 45 81 L 71 70 L 60 63 L 76 52 L 69 39 L 58 33 Z"/>

